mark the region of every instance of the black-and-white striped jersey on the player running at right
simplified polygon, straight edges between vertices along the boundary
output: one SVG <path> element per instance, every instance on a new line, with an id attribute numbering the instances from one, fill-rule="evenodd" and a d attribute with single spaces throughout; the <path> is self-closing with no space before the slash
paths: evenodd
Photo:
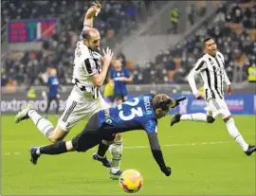
<path id="1" fill-rule="evenodd" d="M 205 54 L 195 63 L 193 71 L 204 81 L 206 99 L 224 98 L 223 82 L 230 83 L 224 65 L 224 56 L 218 51 L 216 57 Z"/>

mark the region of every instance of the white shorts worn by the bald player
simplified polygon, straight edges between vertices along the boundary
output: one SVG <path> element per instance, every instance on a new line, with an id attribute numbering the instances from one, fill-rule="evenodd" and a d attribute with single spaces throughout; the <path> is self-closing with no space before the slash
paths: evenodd
<path id="1" fill-rule="evenodd" d="M 82 98 L 76 90 L 72 90 L 66 100 L 64 114 L 58 120 L 58 128 L 64 132 L 81 120 L 88 120 L 101 109 L 109 108 L 110 105 L 100 96 L 99 98 Z"/>

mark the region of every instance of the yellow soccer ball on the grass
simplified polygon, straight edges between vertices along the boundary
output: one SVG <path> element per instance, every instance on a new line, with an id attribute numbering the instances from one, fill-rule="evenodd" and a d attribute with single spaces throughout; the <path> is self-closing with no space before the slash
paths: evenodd
<path id="1" fill-rule="evenodd" d="M 119 186 L 128 193 L 137 192 L 143 185 L 143 177 L 136 169 L 127 169 L 119 177 Z"/>

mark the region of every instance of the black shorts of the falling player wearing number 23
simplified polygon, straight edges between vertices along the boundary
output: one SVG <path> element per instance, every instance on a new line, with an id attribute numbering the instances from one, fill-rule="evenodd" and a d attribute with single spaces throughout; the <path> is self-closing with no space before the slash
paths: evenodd
<path id="1" fill-rule="evenodd" d="M 90 118 L 82 133 L 72 139 L 72 145 L 76 151 L 87 151 L 100 144 L 103 139 L 114 141 L 115 134 L 108 134 L 107 130 L 100 127 L 98 115 L 95 114 Z"/>

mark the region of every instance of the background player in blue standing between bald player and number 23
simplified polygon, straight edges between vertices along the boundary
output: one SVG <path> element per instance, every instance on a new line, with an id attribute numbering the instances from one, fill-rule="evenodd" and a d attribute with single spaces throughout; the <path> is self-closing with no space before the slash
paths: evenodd
<path id="1" fill-rule="evenodd" d="M 133 78 L 129 71 L 122 67 L 120 60 L 116 60 L 113 65 L 114 69 L 110 72 L 110 79 L 114 80 L 114 99 L 120 104 L 127 96 L 126 82 L 131 82 Z"/>

